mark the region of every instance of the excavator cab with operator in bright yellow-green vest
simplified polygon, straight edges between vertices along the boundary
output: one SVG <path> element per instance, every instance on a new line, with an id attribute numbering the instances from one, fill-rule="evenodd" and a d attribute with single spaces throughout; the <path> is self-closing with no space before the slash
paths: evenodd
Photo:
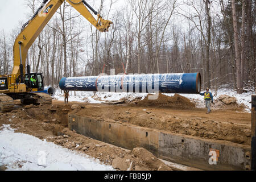
<path id="1" fill-rule="evenodd" d="M 25 84 L 31 91 L 43 91 L 44 90 L 44 80 L 42 73 L 26 73 Z"/>

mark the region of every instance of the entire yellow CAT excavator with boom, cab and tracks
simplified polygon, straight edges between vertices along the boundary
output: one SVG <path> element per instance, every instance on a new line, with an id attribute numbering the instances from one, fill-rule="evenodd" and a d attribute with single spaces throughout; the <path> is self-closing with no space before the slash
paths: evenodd
<path id="1" fill-rule="evenodd" d="M 51 96 L 43 92 L 42 73 L 30 73 L 30 65 L 27 65 L 26 73 L 25 64 L 28 49 L 64 1 L 79 11 L 100 32 L 107 32 L 113 24 L 110 20 L 102 19 L 101 15 L 84 0 L 44 0 L 16 37 L 13 47 L 13 73 L 0 75 L 0 112 L 11 111 L 14 108 L 14 100 L 20 100 L 22 104 L 52 103 Z M 97 20 L 87 7 L 97 15 Z"/>

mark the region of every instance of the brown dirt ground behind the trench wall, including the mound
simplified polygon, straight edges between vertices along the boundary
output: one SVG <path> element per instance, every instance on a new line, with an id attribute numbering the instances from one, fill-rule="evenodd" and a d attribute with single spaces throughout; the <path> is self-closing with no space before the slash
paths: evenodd
<path id="1" fill-rule="evenodd" d="M 221 105 L 222 106 L 222 105 Z M 100 121 L 121 121 L 138 126 L 171 131 L 200 138 L 250 145 L 251 115 L 239 105 L 214 109 L 210 114 L 176 94 L 158 100 L 135 101 L 123 105 L 86 105 L 76 112 Z"/>

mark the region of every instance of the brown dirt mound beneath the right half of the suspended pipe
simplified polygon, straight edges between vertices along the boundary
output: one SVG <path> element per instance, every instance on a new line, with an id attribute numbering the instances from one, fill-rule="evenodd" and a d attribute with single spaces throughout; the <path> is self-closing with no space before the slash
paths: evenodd
<path id="1" fill-rule="evenodd" d="M 175 94 L 173 97 L 166 96 L 164 94 L 159 94 L 158 98 L 155 100 L 151 100 L 150 95 L 137 103 L 137 105 L 141 106 L 154 106 L 154 107 L 172 107 L 179 109 L 189 109 L 195 108 L 195 104 L 191 102 L 188 98 L 180 96 L 179 94 Z"/>

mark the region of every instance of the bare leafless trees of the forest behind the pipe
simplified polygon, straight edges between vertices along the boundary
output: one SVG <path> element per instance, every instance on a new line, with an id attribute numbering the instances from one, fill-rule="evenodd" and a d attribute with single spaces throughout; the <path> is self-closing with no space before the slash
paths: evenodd
<path id="1" fill-rule="evenodd" d="M 62 77 L 115 73 L 200 72 L 203 85 L 255 89 L 255 0 L 98 0 L 109 32 L 92 27 L 68 3 L 28 52 L 46 85 Z M 30 15 L 39 0 L 27 0 Z M 13 44 L 22 24 L 0 31 L 0 74 L 13 69 Z"/>

